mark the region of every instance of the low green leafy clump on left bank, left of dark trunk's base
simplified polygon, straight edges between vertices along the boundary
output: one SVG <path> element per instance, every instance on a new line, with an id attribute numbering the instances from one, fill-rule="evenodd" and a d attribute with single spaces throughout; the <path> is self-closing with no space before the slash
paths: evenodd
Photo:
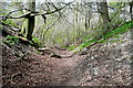
<path id="1" fill-rule="evenodd" d="M 19 37 L 17 36 L 8 35 L 6 38 L 7 40 L 3 40 L 3 43 L 10 44 L 10 45 L 19 43 Z"/>

